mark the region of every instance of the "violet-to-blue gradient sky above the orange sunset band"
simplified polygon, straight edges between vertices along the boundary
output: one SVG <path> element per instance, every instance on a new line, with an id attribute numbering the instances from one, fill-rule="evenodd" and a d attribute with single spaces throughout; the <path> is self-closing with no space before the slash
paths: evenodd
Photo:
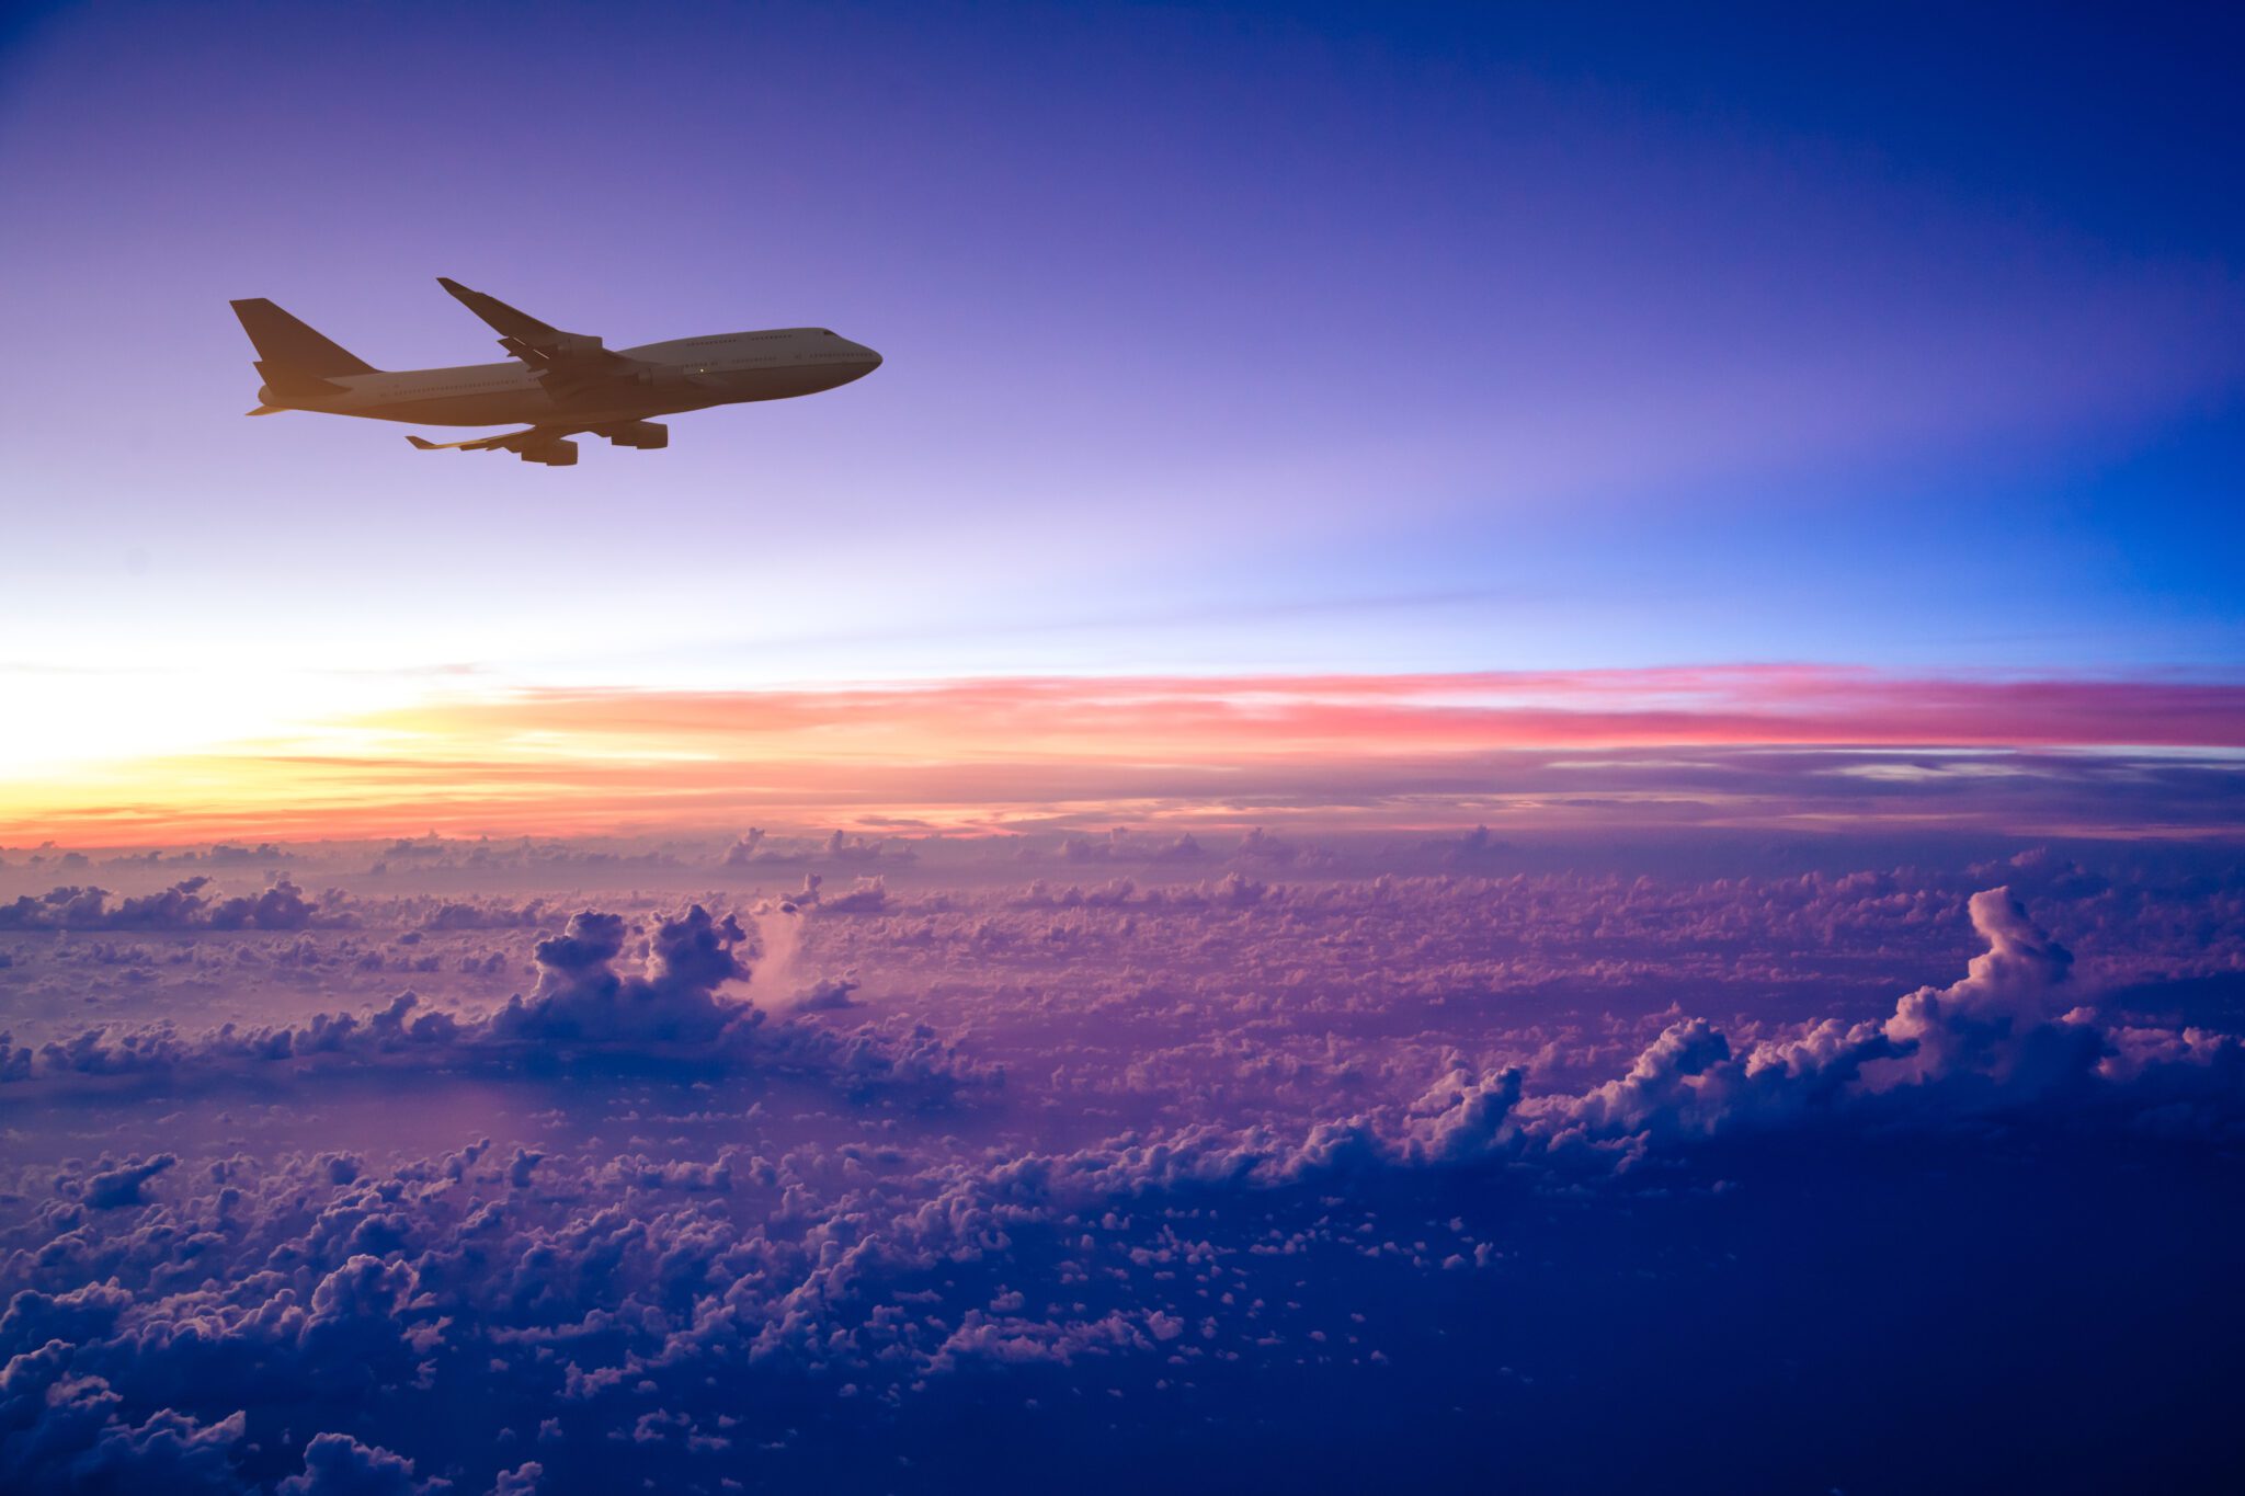
<path id="1" fill-rule="evenodd" d="M 11 837 L 94 760 L 525 689 L 2245 653 L 2236 18 L 9 27 Z M 572 471 L 240 417 L 233 296 L 498 357 L 438 274 L 887 366 Z"/>

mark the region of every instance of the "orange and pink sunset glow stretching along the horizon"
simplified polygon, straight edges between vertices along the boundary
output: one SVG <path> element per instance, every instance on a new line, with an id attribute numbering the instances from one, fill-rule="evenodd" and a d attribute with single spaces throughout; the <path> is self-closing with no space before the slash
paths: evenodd
<path id="1" fill-rule="evenodd" d="M 1776 749 L 1796 754 L 1787 774 L 1767 763 Z M 1904 760 L 1971 749 L 1996 754 L 1982 774 L 2007 776 L 2047 776 L 2050 765 L 2020 765 L 2020 756 L 2065 749 L 2117 763 L 2128 749 L 2155 749 L 2169 767 L 2225 769 L 2245 749 L 2245 689 L 1825 666 L 521 689 L 16 783 L 0 794 L 0 828 L 11 828 L 0 834 L 119 846 L 431 828 L 714 832 L 745 819 L 864 816 L 990 830 L 1055 816 L 1089 825 L 1360 819 L 1378 805 L 1403 825 L 1549 828 L 1648 814 L 1787 823 L 1839 814 L 1850 776 L 1962 776 L 1940 758 L 1933 769 L 1800 760 L 1809 749 L 1888 749 Z M 1677 765 L 1679 751 L 1697 763 Z M 2023 832 L 2153 830 L 2142 810 L 2099 805 L 2088 783 L 2074 792 L 2070 810 L 2034 801 L 1969 814 Z M 1922 812 L 1893 796 L 1852 810 L 1863 819 Z"/>

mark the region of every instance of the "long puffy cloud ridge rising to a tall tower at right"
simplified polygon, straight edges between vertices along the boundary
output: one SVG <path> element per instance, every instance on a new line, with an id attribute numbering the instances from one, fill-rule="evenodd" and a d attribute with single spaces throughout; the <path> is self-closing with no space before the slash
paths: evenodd
<path id="1" fill-rule="evenodd" d="M 1987 951 L 1949 987 L 1904 996 L 1884 1021 L 1783 1025 L 1749 1038 L 1677 1018 L 1623 1074 L 1527 1095 L 1518 1065 L 1453 1065 L 1414 1101 L 1295 1137 L 1190 1128 L 1158 1144 L 1021 1160 L 997 1178 L 1055 1200 L 1185 1182 L 1300 1182 L 1351 1166 L 1484 1160 L 1630 1162 L 1646 1146 L 1783 1126 L 1946 1126 L 2054 1097 L 2216 1133 L 2245 1124 L 2245 1045 L 2202 1029 L 2108 1025 L 2072 1003 L 2072 955 L 2007 888 L 1969 899 Z"/>

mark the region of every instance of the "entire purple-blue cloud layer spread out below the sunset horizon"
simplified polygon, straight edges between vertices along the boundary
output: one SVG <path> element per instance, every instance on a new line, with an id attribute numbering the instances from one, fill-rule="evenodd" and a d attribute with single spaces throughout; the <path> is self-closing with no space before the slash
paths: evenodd
<path id="1" fill-rule="evenodd" d="M 1028 868 L 995 848 L 999 881 L 918 859 L 833 893 L 806 875 L 851 843 L 752 841 L 732 868 L 777 852 L 784 881 L 734 906 L 395 870 L 301 929 L 213 922 L 202 886 L 29 895 L 74 913 L 0 940 L 20 1012 L 117 978 L 103 1003 L 162 1016 L 54 1007 L 7 1050 L 0 1483 L 873 1492 L 898 1460 L 963 1485 L 1066 1444 L 1098 1453 L 1087 1489 L 1221 1489 L 1237 1469 L 1192 1462 L 1215 1429 L 1318 1485 L 1349 1456 L 1316 1431 L 1347 1417 L 1435 1480 L 1486 1447 L 1453 1406 L 1524 1478 L 1619 1480 L 1567 1440 L 1646 1388 L 1592 1348 L 1679 1346 L 1711 1391 L 1792 1357 L 1830 1388 L 1845 1361 L 1756 1328 L 1758 1294 L 1839 1274 L 1933 1332 L 1946 1299 L 1859 1256 L 1904 1225 L 2065 1220 L 2104 1272 L 2180 1260 L 2171 1216 L 2214 1209 L 2209 1160 L 2245 1133 L 2234 875 L 1491 875 L 1461 868 L 1502 843 L 1457 837 L 1394 850 L 1441 870 L 1356 877 L 1316 837 L 1181 857 L 1125 832 Z M 534 980 L 494 991 L 523 953 Z M 438 996 L 191 1023 L 245 982 L 310 1003 L 424 955 Z M 2074 1222 L 2081 1191 L 2137 1240 Z M 2056 1292 L 2086 1272 L 2068 1252 L 2007 1272 Z M 1985 1299 L 1994 1267 L 1951 1258 Z M 2169 1323 L 2162 1287 L 2133 1292 L 2133 1335 Z M 1693 1330 L 1706 1305 L 1724 1328 Z M 2020 1426 L 2052 1417 L 2023 1402 L 2038 1375 L 2104 1386 L 2043 1357 L 1982 1391 Z M 1816 1440 L 1753 1460 L 1747 1483 L 1879 1469 Z"/>

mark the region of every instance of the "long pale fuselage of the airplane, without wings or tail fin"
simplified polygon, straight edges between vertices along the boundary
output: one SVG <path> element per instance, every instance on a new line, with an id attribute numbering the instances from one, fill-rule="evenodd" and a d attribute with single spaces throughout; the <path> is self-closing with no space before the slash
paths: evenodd
<path id="1" fill-rule="evenodd" d="M 267 406 L 364 415 L 424 426 L 557 424 L 595 426 L 651 415 L 707 410 L 752 399 L 817 395 L 880 368 L 880 354 L 824 327 L 725 332 L 620 348 L 651 366 L 644 381 L 599 381 L 579 395 L 555 395 L 523 363 L 467 363 L 330 379 L 335 395 L 258 390 Z"/>

